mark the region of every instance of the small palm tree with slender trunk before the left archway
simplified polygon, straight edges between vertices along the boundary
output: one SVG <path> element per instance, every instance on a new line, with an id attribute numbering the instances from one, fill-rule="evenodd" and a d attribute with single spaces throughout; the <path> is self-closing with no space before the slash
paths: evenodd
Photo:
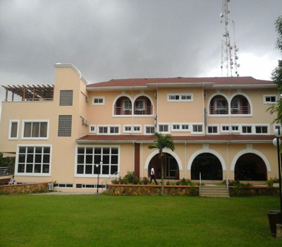
<path id="1" fill-rule="evenodd" d="M 159 150 L 159 158 L 161 159 L 161 195 L 164 195 L 164 164 L 162 157 L 164 156 L 164 148 L 168 148 L 171 151 L 175 150 L 174 143 L 171 135 L 161 135 L 161 133 L 154 133 L 157 139 L 154 140 L 153 145 L 149 145 L 149 149 L 157 148 Z"/>

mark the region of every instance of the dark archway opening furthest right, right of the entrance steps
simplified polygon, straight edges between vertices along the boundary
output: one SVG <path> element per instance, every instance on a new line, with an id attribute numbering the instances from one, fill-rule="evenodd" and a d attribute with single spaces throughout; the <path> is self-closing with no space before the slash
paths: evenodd
<path id="1" fill-rule="evenodd" d="M 254 153 L 241 155 L 235 164 L 235 180 L 266 181 L 267 169 L 262 157 Z"/>

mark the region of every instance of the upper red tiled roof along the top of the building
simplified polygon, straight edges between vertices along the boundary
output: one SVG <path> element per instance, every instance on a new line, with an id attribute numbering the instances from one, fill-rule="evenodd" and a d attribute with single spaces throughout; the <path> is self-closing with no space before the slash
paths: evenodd
<path id="1" fill-rule="evenodd" d="M 257 80 L 247 77 L 204 77 L 204 78 L 136 78 L 112 79 L 103 83 L 87 85 L 88 88 L 99 87 L 142 87 L 148 83 L 214 83 L 214 85 L 274 85 L 271 80 Z"/>

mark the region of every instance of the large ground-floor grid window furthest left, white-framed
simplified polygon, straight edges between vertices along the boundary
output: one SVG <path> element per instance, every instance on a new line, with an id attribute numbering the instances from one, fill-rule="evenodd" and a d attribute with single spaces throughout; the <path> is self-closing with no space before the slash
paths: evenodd
<path id="1" fill-rule="evenodd" d="M 19 146 L 17 175 L 50 176 L 51 146 Z"/>

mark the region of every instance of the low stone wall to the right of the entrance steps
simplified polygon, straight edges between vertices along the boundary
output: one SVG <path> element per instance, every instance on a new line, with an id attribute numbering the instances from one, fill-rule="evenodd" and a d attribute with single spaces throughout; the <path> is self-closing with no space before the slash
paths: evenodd
<path id="1" fill-rule="evenodd" d="M 235 186 L 229 186 L 231 196 L 255 196 L 255 195 L 279 195 L 279 188 L 252 186 L 249 188 L 240 188 L 240 191 Z"/>

